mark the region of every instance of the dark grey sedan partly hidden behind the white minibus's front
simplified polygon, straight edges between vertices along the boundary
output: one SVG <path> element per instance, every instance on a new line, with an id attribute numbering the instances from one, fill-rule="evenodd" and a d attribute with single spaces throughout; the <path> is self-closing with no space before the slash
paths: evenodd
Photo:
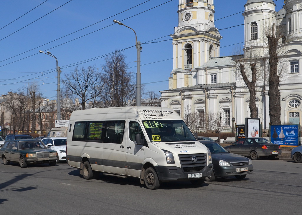
<path id="1" fill-rule="evenodd" d="M 211 152 L 213 172 L 210 177 L 205 178 L 211 182 L 220 176 L 235 176 L 237 179 L 244 179 L 247 174 L 253 172 L 252 160 L 238 154 L 229 153 L 220 144 L 214 141 L 202 141 Z"/>

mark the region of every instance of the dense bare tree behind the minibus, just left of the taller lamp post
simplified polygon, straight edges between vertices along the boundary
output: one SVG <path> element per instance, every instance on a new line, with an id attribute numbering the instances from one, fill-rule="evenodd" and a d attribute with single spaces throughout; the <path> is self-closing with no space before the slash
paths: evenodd
<path id="1" fill-rule="evenodd" d="M 133 73 L 127 72 L 125 55 L 115 51 L 105 58 L 106 64 L 102 65 L 104 73 L 101 75 L 103 90 L 102 99 L 106 107 L 127 106 L 135 98 L 135 85 Z"/>

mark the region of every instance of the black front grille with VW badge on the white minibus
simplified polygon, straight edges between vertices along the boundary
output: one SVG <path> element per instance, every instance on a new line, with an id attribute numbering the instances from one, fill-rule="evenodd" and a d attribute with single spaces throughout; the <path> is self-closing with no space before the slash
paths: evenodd
<path id="1" fill-rule="evenodd" d="M 196 162 L 195 158 L 196 157 Z M 184 172 L 198 172 L 207 166 L 207 153 L 201 154 L 180 154 L 179 160 Z"/>

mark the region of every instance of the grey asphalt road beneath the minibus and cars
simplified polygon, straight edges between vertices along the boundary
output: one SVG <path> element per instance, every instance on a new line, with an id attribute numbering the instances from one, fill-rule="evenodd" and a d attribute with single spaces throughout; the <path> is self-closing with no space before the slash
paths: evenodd
<path id="1" fill-rule="evenodd" d="M 66 163 L 20 168 L 0 162 L 0 213 L 300 214 L 302 164 L 260 159 L 253 165 L 244 180 L 162 183 L 148 190 L 134 178 L 85 180 Z"/>

